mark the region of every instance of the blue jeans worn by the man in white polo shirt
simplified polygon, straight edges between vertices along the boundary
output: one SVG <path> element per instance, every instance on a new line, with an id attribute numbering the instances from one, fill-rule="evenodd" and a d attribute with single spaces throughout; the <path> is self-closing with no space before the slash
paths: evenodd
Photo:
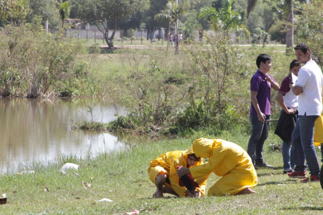
<path id="1" fill-rule="evenodd" d="M 305 157 L 309 173 L 319 177 L 319 164 L 314 146 L 314 123 L 318 116 L 298 116 L 292 141 L 295 146 L 296 172 L 306 171 Z"/>

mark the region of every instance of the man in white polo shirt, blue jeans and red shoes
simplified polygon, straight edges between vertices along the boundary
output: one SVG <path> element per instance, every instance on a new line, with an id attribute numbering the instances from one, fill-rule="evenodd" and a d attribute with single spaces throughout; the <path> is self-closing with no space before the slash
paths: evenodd
<path id="1" fill-rule="evenodd" d="M 298 72 L 296 83 L 290 84 L 295 95 L 298 95 L 298 120 L 292 134 L 295 146 L 295 172 L 290 178 L 300 178 L 301 182 L 319 182 L 320 167 L 314 146 L 314 123 L 322 113 L 323 75 L 321 69 L 311 58 L 306 43 L 295 46 L 295 55 L 304 66 Z M 305 158 L 310 171 L 306 177 Z"/>

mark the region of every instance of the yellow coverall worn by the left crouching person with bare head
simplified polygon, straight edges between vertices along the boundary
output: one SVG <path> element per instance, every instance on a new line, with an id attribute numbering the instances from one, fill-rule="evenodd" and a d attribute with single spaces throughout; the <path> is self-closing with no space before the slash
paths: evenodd
<path id="1" fill-rule="evenodd" d="M 171 187 L 179 196 L 184 196 L 186 188 L 179 185 L 179 177 L 177 176 L 176 170 L 177 166 L 187 167 L 187 157 L 188 154 L 193 154 L 192 148 L 186 151 L 170 151 L 158 156 L 149 163 L 148 174 L 149 179 L 152 183 L 155 183 L 155 178 L 160 172 L 167 174 L 171 184 L 166 184 L 166 186 Z M 201 164 L 197 162 L 198 166 Z M 192 166 L 192 167 L 194 167 Z M 206 180 L 210 174 L 204 174 L 201 177 L 196 177 L 195 182 L 200 186 L 196 188 L 196 191 L 201 192 L 201 196 L 205 195 Z M 164 184 L 165 185 L 165 184 Z"/>

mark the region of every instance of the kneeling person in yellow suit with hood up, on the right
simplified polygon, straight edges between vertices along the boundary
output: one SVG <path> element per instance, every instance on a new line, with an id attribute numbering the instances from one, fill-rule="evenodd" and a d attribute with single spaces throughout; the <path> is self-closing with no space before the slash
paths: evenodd
<path id="1" fill-rule="evenodd" d="M 248 153 L 239 145 L 222 139 L 200 138 L 193 143 L 196 156 L 208 158 L 207 163 L 177 170 L 179 177 L 191 174 L 193 178 L 211 172 L 222 177 L 207 192 L 207 195 L 251 194 L 257 185 L 257 174 Z"/>

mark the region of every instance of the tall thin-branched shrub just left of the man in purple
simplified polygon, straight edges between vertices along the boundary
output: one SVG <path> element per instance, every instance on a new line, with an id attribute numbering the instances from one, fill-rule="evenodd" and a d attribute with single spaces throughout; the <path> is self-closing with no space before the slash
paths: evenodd
<path id="1" fill-rule="evenodd" d="M 239 91 L 239 83 L 245 79 L 241 73 L 245 57 L 238 51 L 228 32 L 219 31 L 205 35 L 203 41 L 190 44 L 185 50 L 193 62 L 193 76 L 197 79 L 191 89 L 189 107 L 179 119 L 186 125 L 216 126 L 218 129 L 232 127 L 239 121 L 238 104 L 232 103 L 233 94 Z M 201 110 L 203 109 L 203 110 Z M 191 115 L 199 113 L 199 119 Z M 183 120 L 185 118 L 186 120 Z M 187 122 L 195 119 L 196 122 Z M 201 124 L 201 121 L 203 122 Z"/>

